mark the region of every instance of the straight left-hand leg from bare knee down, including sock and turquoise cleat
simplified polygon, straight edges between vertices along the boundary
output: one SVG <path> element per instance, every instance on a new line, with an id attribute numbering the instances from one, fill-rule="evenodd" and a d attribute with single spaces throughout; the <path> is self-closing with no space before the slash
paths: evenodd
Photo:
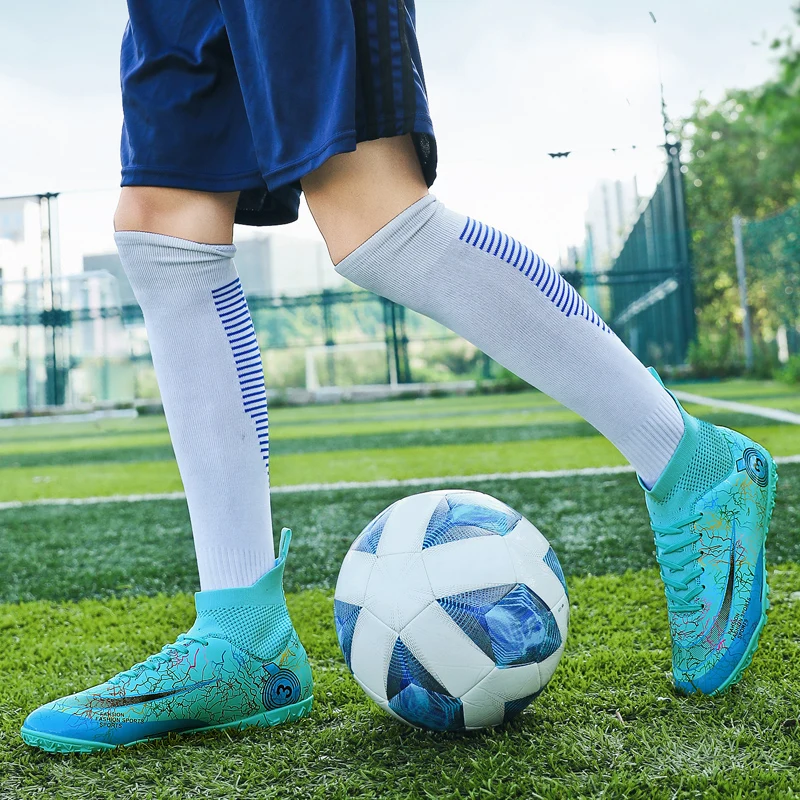
<path id="1" fill-rule="evenodd" d="M 232 262 L 235 205 L 235 193 L 137 187 L 116 215 L 186 489 L 197 619 L 135 668 L 30 714 L 21 732 L 30 745 L 90 752 L 311 710 L 311 670 L 283 596 L 290 532 L 274 560 L 266 390 Z"/>

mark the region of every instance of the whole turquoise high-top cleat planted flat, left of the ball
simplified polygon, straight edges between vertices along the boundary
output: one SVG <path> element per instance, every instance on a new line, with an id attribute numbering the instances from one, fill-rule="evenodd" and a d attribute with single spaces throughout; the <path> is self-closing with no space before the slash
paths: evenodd
<path id="1" fill-rule="evenodd" d="M 198 592 L 197 621 L 174 644 L 99 686 L 38 708 L 29 745 L 87 753 L 169 733 L 267 727 L 311 711 L 311 668 L 283 596 L 291 531 L 263 578 Z"/>

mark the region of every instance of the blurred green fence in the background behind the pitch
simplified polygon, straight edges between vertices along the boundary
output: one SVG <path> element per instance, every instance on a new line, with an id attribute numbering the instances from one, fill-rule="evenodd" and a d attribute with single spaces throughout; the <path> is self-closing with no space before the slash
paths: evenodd
<path id="1" fill-rule="evenodd" d="M 697 339 L 690 242 L 730 247 L 734 229 L 687 227 L 678 149 L 670 155 L 617 257 L 598 269 L 589 251 L 563 274 L 642 360 L 685 368 Z M 0 413 L 156 400 L 144 321 L 118 257 L 85 257 L 83 272 L 62 275 L 56 198 L 17 198 L 13 208 L 4 215 L 0 201 Z M 741 322 L 786 361 L 800 352 L 800 205 L 739 228 L 748 301 Z M 281 291 L 263 277 L 274 253 L 263 242 L 240 247 L 240 272 L 255 276 L 243 282 L 273 390 L 519 383 L 441 325 L 349 284 Z M 280 260 L 285 268 L 307 255 L 290 249 Z M 746 326 L 733 327 L 732 358 L 744 370 Z"/>

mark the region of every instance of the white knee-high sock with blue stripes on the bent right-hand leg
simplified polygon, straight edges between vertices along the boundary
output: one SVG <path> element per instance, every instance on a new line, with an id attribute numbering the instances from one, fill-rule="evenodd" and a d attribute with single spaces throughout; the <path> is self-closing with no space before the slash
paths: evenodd
<path id="1" fill-rule="evenodd" d="M 428 196 L 336 270 L 463 336 L 580 414 L 647 486 L 683 435 L 672 398 L 539 256 Z"/>

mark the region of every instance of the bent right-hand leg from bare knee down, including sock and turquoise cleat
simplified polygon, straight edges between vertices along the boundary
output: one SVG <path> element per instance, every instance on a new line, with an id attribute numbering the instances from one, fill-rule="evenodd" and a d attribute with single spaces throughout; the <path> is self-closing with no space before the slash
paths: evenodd
<path id="1" fill-rule="evenodd" d="M 750 663 L 766 621 L 764 540 L 777 480 L 769 453 L 686 414 L 561 276 L 521 243 L 433 197 L 393 216 L 403 202 L 392 205 L 381 194 L 400 186 L 405 199 L 420 187 L 413 169 L 394 167 L 402 142 L 382 146 L 395 155 L 379 157 L 378 168 L 365 148 L 306 181 L 334 261 L 350 253 L 337 271 L 461 334 L 576 411 L 622 452 L 646 490 L 675 686 L 684 693 L 724 691 Z M 334 227 L 350 220 L 359 224 Z"/>

